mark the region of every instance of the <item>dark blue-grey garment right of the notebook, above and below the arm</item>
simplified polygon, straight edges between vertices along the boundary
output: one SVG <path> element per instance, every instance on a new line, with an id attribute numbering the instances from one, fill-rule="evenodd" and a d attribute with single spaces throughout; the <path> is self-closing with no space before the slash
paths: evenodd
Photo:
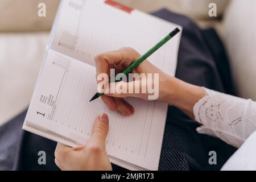
<path id="1" fill-rule="evenodd" d="M 176 70 L 177 78 L 220 92 L 235 93 L 228 57 L 214 30 L 200 30 L 192 20 L 168 10 L 160 10 L 153 15 L 183 27 Z M 227 79 L 230 79 L 229 84 L 226 84 Z M 198 134 L 197 126 L 178 109 L 169 107 L 160 170 L 219 170 L 236 151 L 236 148 L 220 139 Z M 212 150 L 217 152 L 217 165 L 213 166 L 208 163 L 208 154 Z M 177 158 L 180 159 L 179 162 L 176 162 Z"/>

